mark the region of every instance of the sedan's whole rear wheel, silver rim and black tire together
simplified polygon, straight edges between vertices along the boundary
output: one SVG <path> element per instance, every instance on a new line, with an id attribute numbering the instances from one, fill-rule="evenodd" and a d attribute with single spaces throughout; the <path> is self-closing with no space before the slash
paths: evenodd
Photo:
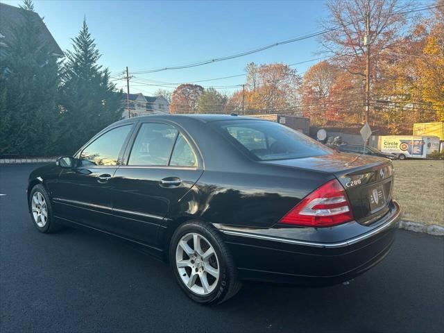
<path id="1" fill-rule="evenodd" d="M 228 248 L 212 225 L 180 225 L 171 239 L 170 264 L 180 288 L 196 302 L 219 304 L 241 288 Z"/>

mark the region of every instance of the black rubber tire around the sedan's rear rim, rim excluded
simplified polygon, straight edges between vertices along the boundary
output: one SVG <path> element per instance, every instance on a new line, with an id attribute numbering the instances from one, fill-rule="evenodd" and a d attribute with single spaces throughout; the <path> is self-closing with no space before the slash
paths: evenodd
<path id="1" fill-rule="evenodd" d="M 178 242 L 182 237 L 190 233 L 196 233 L 205 237 L 205 240 L 210 243 L 212 248 L 214 248 L 214 252 L 216 253 L 219 262 L 219 280 L 216 282 L 214 289 L 210 293 L 207 293 L 207 295 L 198 295 L 197 293 L 194 293 L 194 291 L 191 291 L 185 285 L 185 282 L 182 281 L 179 269 L 176 266 L 176 249 Z M 207 223 L 188 221 L 178 227 L 171 238 L 169 262 L 180 289 L 182 289 L 182 291 L 195 302 L 205 305 L 217 305 L 234 296 L 242 287 L 241 282 L 239 282 L 237 278 L 237 269 L 232 260 L 232 256 L 230 255 L 227 246 L 224 244 L 221 235 L 216 228 Z"/>

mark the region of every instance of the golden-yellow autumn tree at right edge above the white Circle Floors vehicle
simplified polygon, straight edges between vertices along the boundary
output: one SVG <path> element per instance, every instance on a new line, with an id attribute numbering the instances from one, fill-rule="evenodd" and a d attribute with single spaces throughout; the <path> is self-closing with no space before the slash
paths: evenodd
<path id="1" fill-rule="evenodd" d="M 392 133 L 415 122 L 444 120 L 444 1 L 418 20 L 396 58 L 382 62 L 375 112 Z"/>

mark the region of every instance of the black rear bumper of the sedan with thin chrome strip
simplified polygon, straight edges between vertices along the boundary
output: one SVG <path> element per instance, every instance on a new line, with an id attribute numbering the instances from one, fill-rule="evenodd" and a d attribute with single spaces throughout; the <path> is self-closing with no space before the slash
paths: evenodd
<path id="1" fill-rule="evenodd" d="M 216 227 L 242 280 L 329 285 L 355 278 L 384 259 L 399 219 L 400 205 L 393 201 L 388 213 L 368 226 L 350 222 L 318 229 Z"/>

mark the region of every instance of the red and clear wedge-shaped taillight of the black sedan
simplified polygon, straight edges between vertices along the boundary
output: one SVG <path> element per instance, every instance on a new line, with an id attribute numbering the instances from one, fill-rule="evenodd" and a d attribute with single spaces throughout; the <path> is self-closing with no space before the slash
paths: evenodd
<path id="1" fill-rule="evenodd" d="M 303 198 L 279 222 L 309 227 L 330 227 L 352 220 L 353 214 L 345 189 L 334 179 Z"/>

